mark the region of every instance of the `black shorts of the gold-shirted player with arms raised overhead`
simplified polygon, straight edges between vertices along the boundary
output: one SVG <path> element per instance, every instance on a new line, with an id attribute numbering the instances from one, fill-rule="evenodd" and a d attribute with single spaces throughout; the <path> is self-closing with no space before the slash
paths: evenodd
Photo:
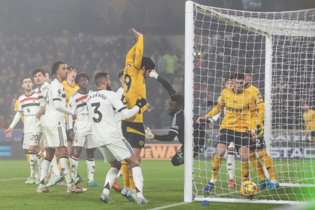
<path id="1" fill-rule="evenodd" d="M 132 148 L 143 148 L 145 142 L 145 132 L 143 123 L 134 123 L 122 120 L 122 131 L 127 142 Z"/>

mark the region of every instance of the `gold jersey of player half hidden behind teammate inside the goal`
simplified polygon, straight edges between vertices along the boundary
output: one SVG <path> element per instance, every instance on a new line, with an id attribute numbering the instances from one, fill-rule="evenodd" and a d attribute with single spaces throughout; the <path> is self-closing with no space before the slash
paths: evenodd
<path id="1" fill-rule="evenodd" d="M 263 120 L 265 116 L 265 104 L 263 97 L 261 96 L 261 93 L 259 90 L 253 86 L 252 84 L 245 88 L 245 90 L 249 90 L 254 97 L 257 98 L 257 112 L 251 113 L 251 121 L 250 121 L 250 130 L 255 130 L 257 125 L 260 126 L 260 130 L 256 132 L 257 137 L 261 136 L 264 133 L 264 125 L 263 125 Z"/>

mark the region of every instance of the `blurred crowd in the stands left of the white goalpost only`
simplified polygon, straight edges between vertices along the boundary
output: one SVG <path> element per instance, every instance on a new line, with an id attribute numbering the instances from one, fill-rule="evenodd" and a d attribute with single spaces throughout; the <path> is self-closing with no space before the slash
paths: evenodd
<path id="1" fill-rule="evenodd" d="M 174 89 L 183 94 L 184 58 L 179 50 L 169 47 L 163 37 L 145 37 L 144 55 L 156 63 L 156 70 L 162 77 L 173 83 Z M 0 41 L 0 129 L 9 126 L 14 117 L 14 103 L 20 96 L 19 89 L 23 77 L 31 77 L 32 71 L 43 68 L 50 74 L 51 65 L 64 61 L 75 66 L 78 73 L 85 72 L 90 77 L 90 89 L 95 90 L 94 75 L 107 72 L 112 81 L 112 90 L 120 87 L 119 70 L 125 67 L 126 53 L 135 44 L 134 37 L 119 35 L 112 41 L 96 41 L 91 35 L 79 33 L 66 42 L 46 37 L 24 37 L 14 35 Z M 54 78 L 50 78 L 52 80 Z M 33 83 L 33 89 L 36 85 Z M 147 100 L 151 107 L 145 117 L 152 128 L 170 125 L 167 105 L 168 93 L 154 79 L 146 80 Z M 165 108 L 166 107 L 166 108 Z M 18 127 L 17 127 L 18 128 Z M 22 124 L 20 126 L 22 128 Z"/>

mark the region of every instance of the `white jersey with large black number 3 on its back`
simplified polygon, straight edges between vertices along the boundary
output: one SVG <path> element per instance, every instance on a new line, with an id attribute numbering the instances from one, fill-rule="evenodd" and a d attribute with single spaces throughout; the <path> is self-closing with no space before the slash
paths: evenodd
<path id="1" fill-rule="evenodd" d="M 95 146 L 108 145 L 124 138 L 116 125 L 115 110 L 121 112 L 126 106 L 117 93 L 108 90 L 93 92 L 87 97 L 87 106 Z"/>

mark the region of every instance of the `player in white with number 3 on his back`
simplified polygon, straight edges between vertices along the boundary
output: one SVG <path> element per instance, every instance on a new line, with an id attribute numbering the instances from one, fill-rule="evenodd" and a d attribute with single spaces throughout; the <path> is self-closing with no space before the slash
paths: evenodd
<path id="1" fill-rule="evenodd" d="M 137 99 L 132 109 L 127 109 L 117 94 L 110 91 L 110 77 L 107 73 L 100 72 L 95 75 L 97 91 L 87 97 L 89 118 L 92 122 L 92 134 L 95 146 L 102 152 L 105 162 L 110 162 L 110 170 L 106 175 L 104 189 L 100 200 L 113 203 L 110 198 L 110 188 L 125 160 L 133 173 L 133 180 L 137 189 L 138 204 L 150 203 L 142 194 L 143 177 L 140 162 L 138 161 L 131 145 L 117 128 L 115 111 L 120 112 L 125 119 L 134 116 L 145 106 L 144 98 Z"/>

